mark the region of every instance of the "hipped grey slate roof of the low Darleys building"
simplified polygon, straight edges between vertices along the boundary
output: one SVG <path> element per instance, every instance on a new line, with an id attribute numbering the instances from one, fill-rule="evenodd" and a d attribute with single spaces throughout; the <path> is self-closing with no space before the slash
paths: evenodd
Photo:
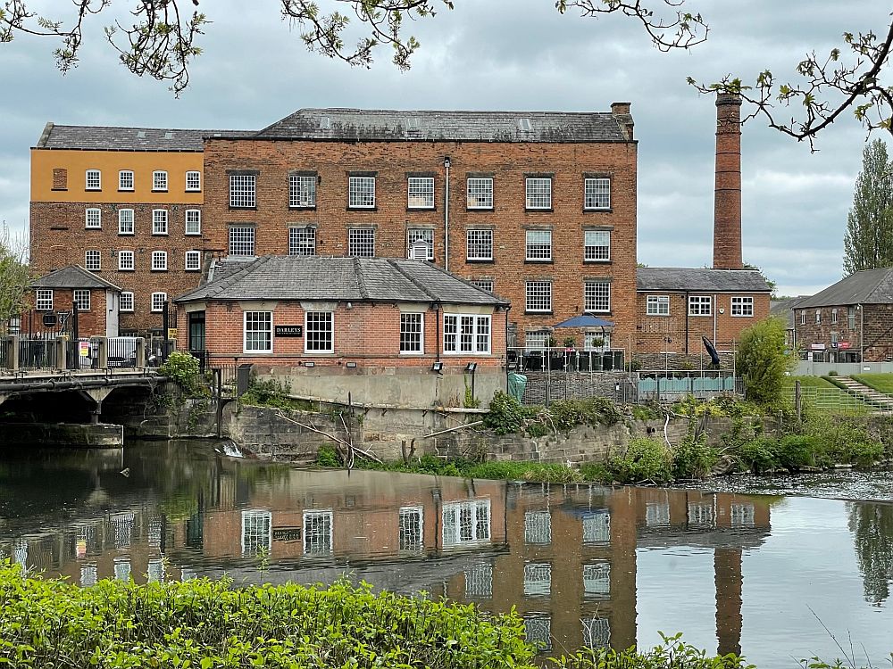
<path id="1" fill-rule="evenodd" d="M 274 255 L 223 260 L 208 283 L 175 301 L 262 299 L 508 305 L 423 260 Z"/>

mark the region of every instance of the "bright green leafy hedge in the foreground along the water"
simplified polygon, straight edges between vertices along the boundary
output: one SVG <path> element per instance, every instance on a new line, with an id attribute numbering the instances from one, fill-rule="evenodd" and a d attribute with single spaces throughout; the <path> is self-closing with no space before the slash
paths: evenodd
<path id="1" fill-rule="evenodd" d="M 264 666 L 533 669 L 521 619 L 443 600 L 195 580 L 22 578 L 0 563 L 0 665 L 82 669 Z"/>

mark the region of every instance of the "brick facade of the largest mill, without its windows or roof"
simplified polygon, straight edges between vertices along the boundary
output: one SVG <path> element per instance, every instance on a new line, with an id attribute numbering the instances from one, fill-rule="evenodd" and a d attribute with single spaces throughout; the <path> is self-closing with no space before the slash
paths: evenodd
<path id="1" fill-rule="evenodd" d="M 209 139 L 205 143 L 205 235 L 225 245 L 230 224 L 255 226 L 255 252 L 287 253 L 289 226 L 317 227 L 317 253 L 344 255 L 349 227 L 375 227 L 377 256 L 406 255 L 407 229 L 428 227 L 434 233 L 434 259 L 445 262 L 444 158 L 449 156 L 450 232 L 448 268 L 472 279 L 491 279 L 497 294 L 512 301 L 509 320 L 518 343 L 526 328 L 553 326 L 583 310 L 587 278 L 611 282 L 611 311 L 599 314 L 616 323 L 615 341 L 633 335 L 636 283 L 636 156 L 634 143 L 523 144 L 413 142 L 302 142 Z M 257 206 L 229 207 L 230 170 L 257 172 Z M 317 204 L 289 210 L 288 172 L 317 174 Z M 348 174 L 376 174 L 376 209 L 347 208 Z M 407 173 L 433 173 L 433 211 L 407 209 Z M 494 178 L 494 209 L 466 209 L 466 177 Z M 525 175 L 551 174 L 550 211 L 525 211 Z M 584 174 L 610 176 L 610 211 L 583 211 Z M 466 261 L 466 230 L 494 230 L 492 262 Z M 526 231 L 552 230 L 551 262 L 526 262 Z M 584 262 L 584 230 L 611 230 L 611 260 Z M 552 312 L 525 313 L 525 281 L 552 283 Z"/>

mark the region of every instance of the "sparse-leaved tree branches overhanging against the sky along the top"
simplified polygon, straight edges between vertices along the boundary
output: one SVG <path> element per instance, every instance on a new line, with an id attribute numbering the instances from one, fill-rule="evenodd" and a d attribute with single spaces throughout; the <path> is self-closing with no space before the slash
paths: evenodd
<path id="1" fill-rule="evenodd" d="M 52 14 L 46 14 L 38 0 L 0 0 L 0 42 L 20 35 L 60 39 L 54 55 L 64 72 L 78 63 L 85 22 L 101 13 L 112 17 L 106 22 L 105 37 L 121 64 L 138 76 L 171 81 L 172 90 L 179 94 L 188 86 L 190 65 L 202 53 L 196 40 L 212 22 L 196 10 L 201 1 L 71 0 L 71 14 L 60 18 L 56 4 L 62 3 L 53 3 Z M 665 52 L 700 45 L 710 30 L 706 18 L 692 6 L 698 0 L 547 2 L 560 13 L 577 12 L 584 19 L 609 14 L 626 17 Z M 462 0 L 280 0 L 280 14 L 300 28 L 301 39 L 315 53 L 369 67 L 375 50 L 385 46 L 392 50 L 394 64 L 408 70 L 420 44 L 405 34 L 407 20 L 429 19 L 455 10 L 456 4 Z M 41 7 L 39 12 L 35 5 Z M 122 7 L 129 14 L 121 12 Z M 846 19 L 845 5 L 839 11 L 841 19 Z M 764 70 L 749 85 L 731 74 L 713 84 L 689 78 L 689 84 L 702 93 L 740 95 L 751 108 L 747 118 L 759 116 L 770 128 L 808 140 L 810 145 L 818 132 L 847 111 L 866 128 L 893 131 L 893 92 L 885 83 L 893 50 L 893 18 L 885 23 L 889 25 L 877 33 L 844 32 L 843 45 L 827 55 L 808 52 L 795 66 L 793 78 L 786 81 Z M 347 44 L 347 33 L 355 26 L 356 42 Z"/>

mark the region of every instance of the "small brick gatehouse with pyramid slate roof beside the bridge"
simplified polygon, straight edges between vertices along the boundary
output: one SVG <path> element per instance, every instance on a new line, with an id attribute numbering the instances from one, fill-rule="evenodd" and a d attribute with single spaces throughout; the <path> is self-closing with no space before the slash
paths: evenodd
<path id="1" fill-rule="evenodd" d="M 71 335 L 77 302 L 79 337 L 118 336 L 121 288 L 93 272 L 69 265 L 33 281 L 30 289 L 33 309 L 21 314 L 20 335 Z"/>

